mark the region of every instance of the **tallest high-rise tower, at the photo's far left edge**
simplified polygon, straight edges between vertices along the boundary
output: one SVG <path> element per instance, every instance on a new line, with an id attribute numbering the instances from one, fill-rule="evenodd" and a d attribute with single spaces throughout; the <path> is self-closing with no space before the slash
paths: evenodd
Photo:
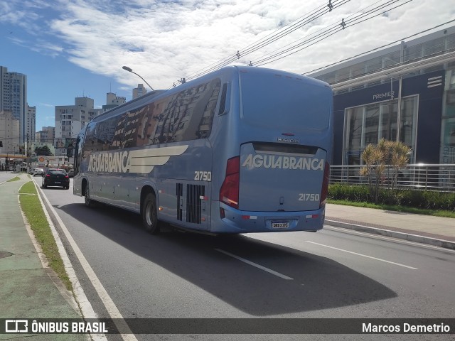
<path id="1" fill-rule="evenodd" d="M 27 139 L 27 76 L 18 72 L 8 72 L 0 66 L 0 110 L 8 110 L 19 120 L 19 140 Z"/>

